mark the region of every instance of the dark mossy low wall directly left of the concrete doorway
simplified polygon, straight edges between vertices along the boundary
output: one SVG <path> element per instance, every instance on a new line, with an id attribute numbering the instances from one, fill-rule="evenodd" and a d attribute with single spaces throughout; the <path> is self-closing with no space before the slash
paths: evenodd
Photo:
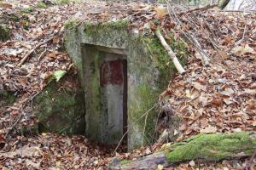
<path id="1" fill-rule="evenodd" d="M 50 82 L 33 102 L 38 131 L 84 134 L 84 94 L 73 75 Z"/>

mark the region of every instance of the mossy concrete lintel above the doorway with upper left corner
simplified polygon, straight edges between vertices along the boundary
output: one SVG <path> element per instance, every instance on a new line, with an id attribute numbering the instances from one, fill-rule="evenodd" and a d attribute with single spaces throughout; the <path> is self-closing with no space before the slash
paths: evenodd
<path id="1" fill-rule="evenodd" d="M 83 44 L 93 44 L 110 48 L 125 48 L 127 46 L 128 36 L 125 28 L 126 21 L 103 24 L 82 23 L 74 20 L 68 20 L 66 23 L 65 46 L 67 53 L 73 59 L 74 64 L 79 70 L 79 76 L 82 77 L 82 54 Z"/>

